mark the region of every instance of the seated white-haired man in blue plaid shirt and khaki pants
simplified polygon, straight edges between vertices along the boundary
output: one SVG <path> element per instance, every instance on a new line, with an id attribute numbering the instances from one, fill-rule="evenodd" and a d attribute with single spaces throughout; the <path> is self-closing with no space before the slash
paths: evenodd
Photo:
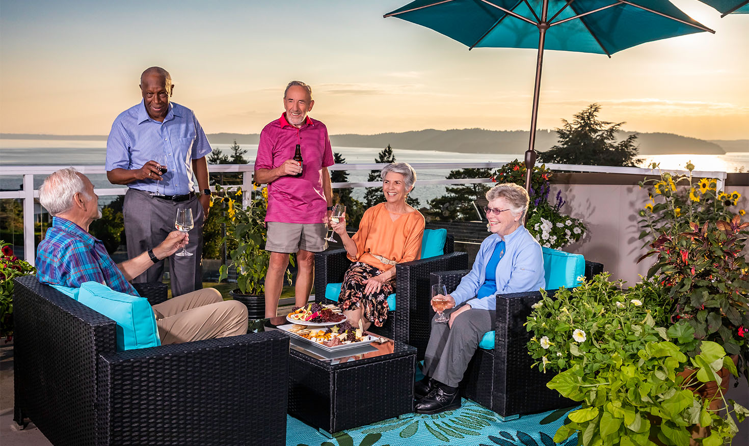
<path id="1" fill-rule="evenodd" d="M 98 200 L 94 185 L 74 168 L 46 177 L 39 189 L 39 201 L 53 219 L 37 248 L 37 277 L 43 284 L 65 287 L 95 281 L 139 296 L 129 281 L 187 244 L 187 234 L 175 230 L 159 245 L 115 264 L 103 243 L 88 233 L 89 224 L 101 217 Z M 213 288 L 192 291 L 153 308 L 164 344 L 247 332 L 247 308 L 241 302 L 224 301 Z"/>

